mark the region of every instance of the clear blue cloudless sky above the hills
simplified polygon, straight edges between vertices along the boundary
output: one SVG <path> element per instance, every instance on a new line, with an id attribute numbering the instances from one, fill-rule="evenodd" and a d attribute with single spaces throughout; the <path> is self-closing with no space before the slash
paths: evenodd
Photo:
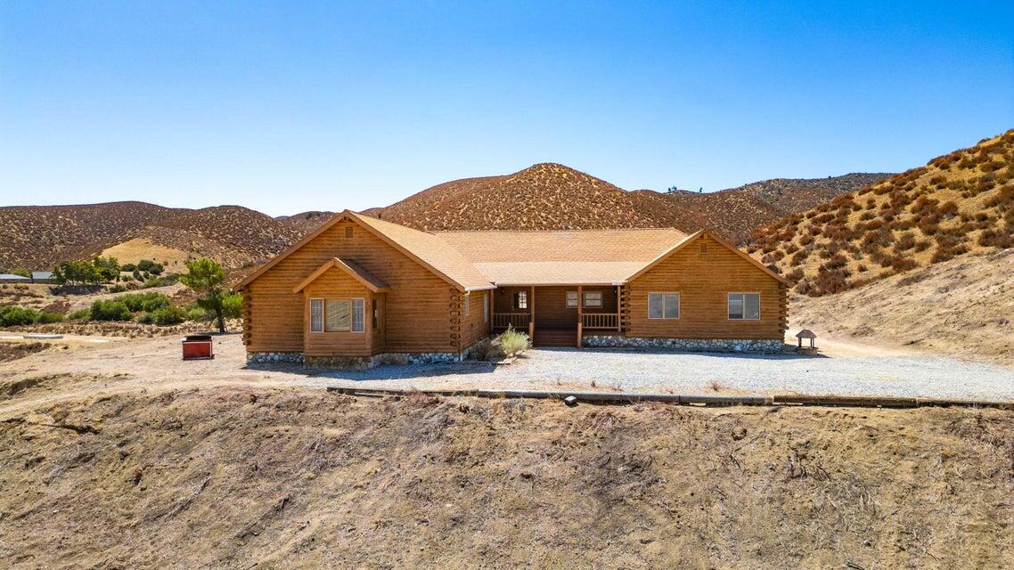
<path id="1" fill-rule="evenodd" d="M 561 162 L 901 171 L 1014 128 L 1014 3 L 0 2 L 0 205 L 271 215 Z"/>

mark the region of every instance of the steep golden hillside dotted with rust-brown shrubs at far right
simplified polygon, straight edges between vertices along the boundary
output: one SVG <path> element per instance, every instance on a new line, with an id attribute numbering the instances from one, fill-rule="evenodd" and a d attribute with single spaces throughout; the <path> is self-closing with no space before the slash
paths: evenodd
<path id="1" fill-rule="evenodd" d="M 815 296 L 1011 247 L 1012 159 L 1014 130 L 784 218 L 749 251 Z"/>

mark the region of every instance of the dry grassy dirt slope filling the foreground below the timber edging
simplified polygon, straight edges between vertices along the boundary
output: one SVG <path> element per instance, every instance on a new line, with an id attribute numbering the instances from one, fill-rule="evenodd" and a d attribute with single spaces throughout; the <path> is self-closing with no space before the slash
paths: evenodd
<path id="1" fill-rule="evenodd" d="M 1012 453 L 1000 411 L 139 391 L 0 414 L 0 560 L 999 569 Z"/>

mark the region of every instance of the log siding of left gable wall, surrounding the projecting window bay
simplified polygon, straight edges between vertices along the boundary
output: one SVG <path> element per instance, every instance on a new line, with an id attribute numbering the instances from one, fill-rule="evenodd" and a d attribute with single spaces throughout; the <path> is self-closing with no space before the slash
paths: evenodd
<path id="1" fill-rule="evenodd" d="M 345 228 L 352 226 L 352 237 Z M 335 224 L 244 287 L 244 341 L 250 352 L 303 350 L 303 295 L 293 293 L 325 261 L 349 259 L 384 281 L 386 352 L 454 352 L 449 283 L 354 222 Z M 482 318 L 482 314 L 480 314 Z"/>

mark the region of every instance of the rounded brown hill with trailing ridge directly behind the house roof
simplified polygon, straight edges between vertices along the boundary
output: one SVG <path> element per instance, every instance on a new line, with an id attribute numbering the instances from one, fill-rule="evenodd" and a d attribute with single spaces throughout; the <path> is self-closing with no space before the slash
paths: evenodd
<path id="1" fill-rule="evenodd" d="M 365 213 L 419 229 L 710 227 L 735 241 L 764 224 L 887 174 L 777 179 L 720 192 L 628 192 L 555 163 L 440 184 Z"/>

